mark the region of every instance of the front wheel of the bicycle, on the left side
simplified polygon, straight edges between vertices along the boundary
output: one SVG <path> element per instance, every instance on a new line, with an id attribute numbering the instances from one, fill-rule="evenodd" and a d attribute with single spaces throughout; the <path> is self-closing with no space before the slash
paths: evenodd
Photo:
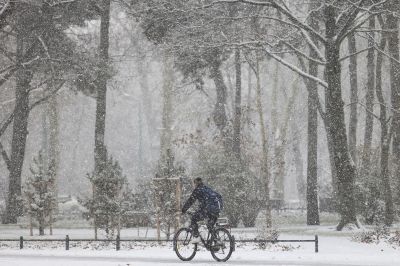
<path id="1" fill-rule="evenodd" d="M 174 251 L 178 258 L 183 261 L 189 261 L 194 258 L 197 251 L 197 244 L 191 244 L 192 230 L 189 228 L 181 228 L 174 236 Z"/>

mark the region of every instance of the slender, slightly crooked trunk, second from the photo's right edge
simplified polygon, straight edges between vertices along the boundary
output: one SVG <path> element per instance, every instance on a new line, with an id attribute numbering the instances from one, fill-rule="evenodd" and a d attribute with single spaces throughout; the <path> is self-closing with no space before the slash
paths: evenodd
<path id="1" fill-rule="evenodd" d="M 379 48 L 384 51 L 386 47 L 386 37 L 382 37 Z M 389 150 L 390 150 L 390 139 L 389 134 L 389 121 L 387 120 L 386 103 L 383 97 L 382 90 L 382 64 L 383 54 L 378 53 L 376 58 L 376 97 L 379 101 L 380 109 L 380 122 L 381 122 L 381 161 L 380 170 L 383 186 L 383 196 L 385 200 L 385 225 L 391 226 L 394 219 L 394 208 L 392 189 L 390 187 L 390 175 L 389 175 Z"/>

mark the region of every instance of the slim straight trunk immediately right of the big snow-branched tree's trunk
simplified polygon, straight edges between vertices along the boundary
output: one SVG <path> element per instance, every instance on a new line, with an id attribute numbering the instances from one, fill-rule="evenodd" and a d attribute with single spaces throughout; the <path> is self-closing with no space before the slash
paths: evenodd
<path id="1" fill-rule="evenodd" d="M 350 74 L 350 119 L 349 119 L 349 150 L 351 158 L 357 161 L 357 107 L 358 107 L 358 78 L 357 78 L 357 52 L 356 36 L 351 34 L 348 37 L 348 46 L 350 56 L 349 74 Z"/>

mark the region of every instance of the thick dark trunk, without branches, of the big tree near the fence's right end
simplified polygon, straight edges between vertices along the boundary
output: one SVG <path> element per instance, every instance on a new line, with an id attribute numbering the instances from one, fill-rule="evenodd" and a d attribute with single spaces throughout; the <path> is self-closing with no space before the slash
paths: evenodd
<path id="1" fill-rule="evenodd" d="M 341 89 L 341 65 L 339 61 L 340 47 L 335 40 L 337 31 L 336 15 L 333 6 L 325 9 L 326 69 L 328 83 L 326 115 L 329 122 L 329 134 L 332 137 L 334 162 L 337 171 L 337 186 L 339 196 L 339 212 L 341 220 L 337 230 L 342 230 L 348 223 L 359 226 L 356 218 L 354 199 L 355 166 L 352 164 L 347 146 L 346 126 L 344 121 L 344 103 Z"/>

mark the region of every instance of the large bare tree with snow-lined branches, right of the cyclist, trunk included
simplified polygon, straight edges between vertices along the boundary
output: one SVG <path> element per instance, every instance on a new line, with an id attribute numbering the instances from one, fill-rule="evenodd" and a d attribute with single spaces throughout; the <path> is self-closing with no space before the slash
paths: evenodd
<path id="1" fill-rule="evenodd" d="M 283 19 L 276 17 L 264 16 L 264 19 L 279 20 L 285 25 L 297 28 L 300 34 L 304 37 L 305 42 L 311 47 L 316 54 L 316 58 L 306 56 L 302 51 L 293 49 L 294 53 L 305 57 L 307 60 L 313 60 L 325 67 L 325 80 L 319 79 L 314 75 L 301 70 L 301 68 L 294 64 L 283 60 L 271 50 L 276 45 L 271 41 L 265 39 L 262 43 L 264 51 L 285 65 L 289 69 L 295 71 L 299 75 L 317 82 L 322 87 L 326 88 L 326 122 L 328 123 L 328 135 L 332 145 L 332 157 L 337 174 L 337 191 L 339 199 L 339 212 L 341 220 L 337 226 L 337 230 L 341 230 L 346 224 L 354 223 L 357 226 L 358 221 L 356 218 L 356 209 L 354 204 L 354 180 L 356 175 L 355 165 L 350 156 L 346 125 L 344 120 L 344 103 L 342 99 L 341 87 L 341 61 L 340 58 L 340 45 L 343 40 L 350 34 L 353 34 L 356 29 L 368 21 L 371 16 L 375 16 L 375 11 L 378 7 L 382 6 L 383 2 L 370 3 L 366 1 L 360 2 L 340 2 L 331 3 L 330 1 L 322 3 L 321 10 L 324 14 L 324 31 L 321 33 L 313 29 L 311 26 L 303 23 L 295 13 L 290 9 L 290 6 L 285 2 L 269 0 L 265 2 L 255 0 L 219 0 L 216 3 L 245 3 L 249 5 L 263 6 L 266 8 L 273 8 L 282 14 Z M 322 16 L 321 16 L 322 17 Z M 320 42 L 324 48 L 324 54 L 318 49 L 318 46 L 313 41 L 313 38 Z M 261 44 L 262 44 L 261 43 Z M 281 43 L 281 42 L 279 42 Z M 243 46 L 259 46 L 260 42 L 243 42 Z"/>

